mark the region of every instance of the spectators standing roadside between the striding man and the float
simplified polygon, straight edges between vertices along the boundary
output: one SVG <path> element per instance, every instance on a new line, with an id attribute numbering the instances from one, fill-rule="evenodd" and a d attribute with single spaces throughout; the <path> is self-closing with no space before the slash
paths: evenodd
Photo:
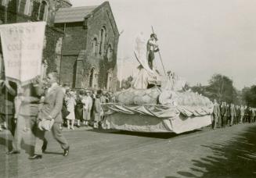
<path id="1" fill-rule="evenodd" d="M 72 91 L 67 90 L 65 105 L 69 114 L 66 116 L 67 128 L 74 130 L 74 120 L 77 119 L 77 126 L 93 126 L 99 128 L 103 121 L 102 104 L 112 101 L 112 95 L 103 94 L 103 91 Z"/>

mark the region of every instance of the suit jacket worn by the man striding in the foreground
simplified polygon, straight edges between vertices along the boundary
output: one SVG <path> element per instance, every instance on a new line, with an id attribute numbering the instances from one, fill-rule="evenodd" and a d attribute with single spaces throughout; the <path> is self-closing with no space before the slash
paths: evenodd
<path id="1" fill-rule="evenodd" d="M 52 119 L 55 123 L 63 123 L 61 109 L 63 107 L 64 93 L 63 89 L 59 86 L 55 86 L 51 91 L 45 94 L 45 100 L 39 112 L 39 119 Z"/>

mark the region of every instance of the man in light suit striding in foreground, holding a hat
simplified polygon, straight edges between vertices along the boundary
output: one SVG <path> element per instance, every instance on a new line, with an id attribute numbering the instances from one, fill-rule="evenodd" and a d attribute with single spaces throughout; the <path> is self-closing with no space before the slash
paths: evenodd
<path id="1" fill-rule="evenodd" d="M 61 124 L 63 123 L 63 118 L 61 114 L 61 109 L 63 106 L 64 93 L 62 87 L 59 87 L 57 84 L 58 73 L 52 72 L 47 76 L 47 81 L 50 85 L 48 91 L 45 94 L 45 99 L 43 105 L 38 114 L 38 119 L 54 119 L 52 126 L 52 135 L 59 142 L 61 148 L 63 148 L 63 156 L 69 154 L 69 144 L 65 137 L 63 137 Z M 34 146 L 34 155 L 30 159 L 42 158 L 42 146 L 45 140 L 45 130 L 40 130 L 39 128 L 36 131 L 36 140 Z"/>

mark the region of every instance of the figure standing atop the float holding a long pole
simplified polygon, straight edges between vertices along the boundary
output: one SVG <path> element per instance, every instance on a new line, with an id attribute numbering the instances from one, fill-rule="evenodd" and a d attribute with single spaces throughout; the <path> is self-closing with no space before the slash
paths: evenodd
<path id="1" fill-rule="evenodd" d="M 146 43 L 146 57 L 149 62 L 150 69 L 153 69 L 154 53 L 159 52 L 157 45 L 157 34 L 150 34 L 150 39 Z"/>

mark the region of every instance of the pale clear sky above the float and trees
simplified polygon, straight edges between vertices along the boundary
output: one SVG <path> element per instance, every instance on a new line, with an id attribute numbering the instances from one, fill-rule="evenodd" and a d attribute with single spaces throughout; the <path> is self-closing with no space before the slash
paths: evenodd
<path id="1" fill-rule="evenodd" d="M 102 0 L 70 0 L 73 6 L 99 5 Z M 221 73 L 237 89 L 256 84 L 255 0 L 109 0 L 119 32 L 119 77 L 139 65 L 135 38 L 147 38 L 151 26 L 158 37 L 165 70 L 189 85 L 207 84 Z M 162 69 L 156 54 L 157 68 Z M 119 68 L 120 69 L 120 68 Z"/>

